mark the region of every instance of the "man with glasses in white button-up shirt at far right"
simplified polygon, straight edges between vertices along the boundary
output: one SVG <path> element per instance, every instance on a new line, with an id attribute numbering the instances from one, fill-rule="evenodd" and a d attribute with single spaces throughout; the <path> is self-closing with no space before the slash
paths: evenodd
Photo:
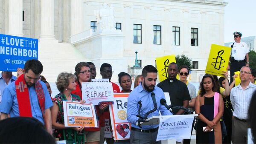
<path id="1" fill-rule="evenodd" d="M 248 107 L 256 85 L 250 82 L 252 70 L 249 66 L 243 66 L 240 70 L 241 83 L 231 89 L 230 101 L 234 112 L 232 118 L 232 143 L 247 144 Z"/>

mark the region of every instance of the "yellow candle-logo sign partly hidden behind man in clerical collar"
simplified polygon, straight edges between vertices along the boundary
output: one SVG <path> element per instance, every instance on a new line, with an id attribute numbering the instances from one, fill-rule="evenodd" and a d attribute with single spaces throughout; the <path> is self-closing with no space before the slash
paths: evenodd
<path id="1" fill-rule="evenodd" d="M 166 55 L 163 57 L 157 57 L 156 63 L 157 63 L 157 71 L 159 75 L 160 82 L 168 78 L 168 66 L 170 63 L 175 62 L 175 55 Z"/>

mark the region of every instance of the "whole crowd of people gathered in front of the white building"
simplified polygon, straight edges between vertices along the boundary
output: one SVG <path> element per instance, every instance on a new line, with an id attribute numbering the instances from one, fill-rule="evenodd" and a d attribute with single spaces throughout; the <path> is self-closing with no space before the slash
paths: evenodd
<path id="1" fill-rule="evenodd" d="M 241 33 L 235 32 L 234 38 L 241 39 Z M 237 43 L 236 45 L 233 43 L 236 49 Z M 247 54 L 245 58 L 249 59 Z M 236 58 L 231 58 L 231 61 L 236 63 L 241 61 L 234 60 Z M 111 82 L 113 75 L 111 64 L 103 63 L 100 66 L 100 75 L 109 80 L 113 92 L 130 93 L 127 103 L 127 120 L 131 123 L 130 139 L 114 141 L 113 138 L 105 138 L 105 119 L 110 119 L 107 104 L 95 106 L 99 127 L 65 127 L 64 125 L 63 101 L 86 103 L 82 100 L 81 84 L 96 78 L 96 66 L 92 62 L 77 63 L 74 74 L 61 72 L 56 81 L 60 93 L 51 98 L 51 87 L 41 75 L 43 65 L 39 60 L 27 60 L 23 69 L 17 69 L 17 78 L 12 72 L 0 74 L 0 98 L 2 98 L 0 143 L 15 143 L 15 139 L 10 137 L 13 131 L 21 133 L 21 135 L 17 133 L 19 136 L 16 140 L 19 143 L 54 143 L 55 140 L 65 140 L 68 144 L 103 144 L 104 141 L 108 144 L 161 143 L 156 140 L 158 125 L 140 125 L 141 122 L 147 121 L 137 116 L 139 107 L 140 115 L 148 117 L 160 113 L 161 115 L 189 114 L 184 109 L 169 111 L 160 104 L 160 99 L 165 98 L 163 92 L 169 93 L 173 106 L 184 107 L 198 114 L 198 119 L 192 123 L 192 130 L 193 128 L 196 130 L 196 143 L 247 143 L 247 128 L 252 129 L 253 136 L 256 135 L 256 85 L 254 84 L 256 71 L 248 64 L 245 61 L 243 65 L 241 64 L 239 68 L 241 83 L 237 86 L 234 85 L 238 75 L 231 74 L 230 84 L 228 72 L 223 71 L 220 78 L 205 74 L 199 91 L 196 92 L 195 86 L 187 80 L 188 66 L 169 63 L 168 78 L 157 84 L 157 69 L 147 65 L 143 68 L 142 74 L 135 78 L 133 89 L 131 89 L 131 75 L 120 72 L 118 74 L 118 82 L 122 88 L 120 90 L 117 84 Z M 230 68 L 233 68 L 232 62 Z M 149 111 L 152 112 L 147 115 Z M 29 132 L 31 135 L 26 137 L 24 133 Z M 44 138 L 39 138 L 40 135 Z M 253 141 L 256 142 L 255 139 Z M 183 143 L 189 144 L 190 139 L 184 139 Z"/>

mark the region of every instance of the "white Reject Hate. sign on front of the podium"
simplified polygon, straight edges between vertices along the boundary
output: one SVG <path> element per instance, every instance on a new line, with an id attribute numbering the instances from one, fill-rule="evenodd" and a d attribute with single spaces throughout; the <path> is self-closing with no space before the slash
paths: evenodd
<path id="1" fill-rule="evenodd" d="M 163 115 L 159 120 L 157 141 L 191 137 L 194 115 Z"/>

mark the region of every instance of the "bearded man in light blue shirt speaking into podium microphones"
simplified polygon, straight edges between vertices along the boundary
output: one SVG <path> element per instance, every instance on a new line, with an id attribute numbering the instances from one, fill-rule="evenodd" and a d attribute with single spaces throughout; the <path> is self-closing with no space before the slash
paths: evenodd
<path id="1" fill-rule="evenodd" d="M 161 144 L 161 141 L 157 141 L 158 125 L 141 125 L 139 127 L 136 123 L 140 124 L 141 119 L 143 121 L 145 117 L 159 115 L 159 111 L 161 115 L 172 115 L 172 113 L 160 104 L 160 99 L 165 99 L 165 96 L 163 90 L 156 86 L 157 69 L 151 65 L 145 66 L 140 78 L 142 82 L 128 97 L 127 119 L 131 123 L 130 143 Z"/>

